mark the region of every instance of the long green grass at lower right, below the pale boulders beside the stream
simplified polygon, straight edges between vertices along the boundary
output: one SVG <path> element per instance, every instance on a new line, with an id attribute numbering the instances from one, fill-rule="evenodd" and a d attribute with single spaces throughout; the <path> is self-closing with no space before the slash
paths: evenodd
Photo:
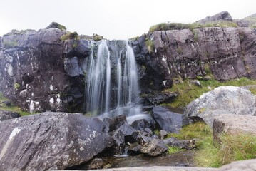
<path id="1" fill-rule="evenodd" d="M 198 139 L 195 164 L 200 167 L 220 167 L 232 161 L 256 158 L 256 136 L 250 134 L 220 135 L 220 142 L 213 141 L 213 131 L 205 123 L 194 123 L 170 133 L 168 138 L 180 140 Z M 179 149 L 169 147 L 170 153 Z M 168 150 L 168 152 L 169 152 Z"/>

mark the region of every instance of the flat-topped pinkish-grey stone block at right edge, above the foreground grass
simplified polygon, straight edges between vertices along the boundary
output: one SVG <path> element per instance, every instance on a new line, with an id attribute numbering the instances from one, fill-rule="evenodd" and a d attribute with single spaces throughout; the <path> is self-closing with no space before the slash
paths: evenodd
<path id="1" fill-rule="evenodd" d="M 215 117 L 213 121 L 213 138 L 219 140 L 218 136 L 222 133 L 256 135 L 256 116 L 220 115 Z"/>

